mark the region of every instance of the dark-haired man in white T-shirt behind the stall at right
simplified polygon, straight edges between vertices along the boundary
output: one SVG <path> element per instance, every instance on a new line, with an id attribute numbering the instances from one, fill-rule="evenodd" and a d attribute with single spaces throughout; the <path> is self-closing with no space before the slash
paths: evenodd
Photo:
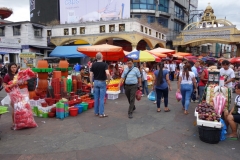
<path id="1" fill-rule="evenodd" d="M 224 76 L 225 82 L 224 85 L 227 88 L 232 89 L 232 81 L 235 78 L 235 73 L 232 68 L 229 67 L 230 62 L 228 60 L 222 61 L 222 68 L 220 69 L 220 76 Z"/>

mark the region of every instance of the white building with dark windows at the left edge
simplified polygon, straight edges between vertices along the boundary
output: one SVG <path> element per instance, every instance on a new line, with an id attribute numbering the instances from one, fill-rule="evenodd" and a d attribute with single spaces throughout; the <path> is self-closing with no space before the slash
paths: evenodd
<path id="1" fill-rule="evenodd" d="M 21 63 L 21 53 L 45 54 L 47 34 L 45 26 L 30 22 L 0 24 L 0 54 L 3 63 Z M 1 58 L 1 56 L 0 56 Z"/>

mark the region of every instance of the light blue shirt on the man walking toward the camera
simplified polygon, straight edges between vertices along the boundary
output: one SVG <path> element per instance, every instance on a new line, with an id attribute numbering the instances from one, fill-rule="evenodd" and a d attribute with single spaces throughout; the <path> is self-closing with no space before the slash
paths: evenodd
<path id="1" fill-rule="evenodd" d="M 125 78 L 127 73 L 129 71 L 129 68 L 125 68 L 122 74 L 122 78 Z M 134 67 L 127 75 L 125 79 L 125 84 L 137 84 L 138 78 L 141 78 L 141 73 L 137 67 Z"/>

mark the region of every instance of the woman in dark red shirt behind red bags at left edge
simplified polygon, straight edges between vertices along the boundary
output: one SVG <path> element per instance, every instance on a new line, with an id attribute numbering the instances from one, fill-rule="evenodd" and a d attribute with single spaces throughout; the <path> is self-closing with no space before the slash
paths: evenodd
<path id="1" fill-rule="evenodd" d="M 13 80 L 14 76 L 18 73 L 17 70 L 17 64 L 16 63 L 10 63 L 8 65 L 8 73 L 6 74 L 6 76 L 3 79 L 3 87 L 5 88 L 5 90 L 7 91 L 9 88 L 13 87 L 13 84 L 9 85 L 8 83 L 10 81 Z M 11 106 L 14 108 L 14 104 L 11 103 Z M 12 112 L 12 122 L 14 125 L 14 112 Z M 11 129 L 13 130 L 13 126 L 11 127 Z"/>

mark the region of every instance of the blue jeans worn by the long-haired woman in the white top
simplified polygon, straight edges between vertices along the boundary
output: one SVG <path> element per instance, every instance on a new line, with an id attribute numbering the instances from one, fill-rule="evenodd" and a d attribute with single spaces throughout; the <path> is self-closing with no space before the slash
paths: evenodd
<path id="1" fill-rule="evenodd" d="M 192 84 L 181 84 L 181 94 L 182 94 L 182 105 L 185 107 L 185 110 L 188 110 L 191 94 L 193 92 Z"/>

